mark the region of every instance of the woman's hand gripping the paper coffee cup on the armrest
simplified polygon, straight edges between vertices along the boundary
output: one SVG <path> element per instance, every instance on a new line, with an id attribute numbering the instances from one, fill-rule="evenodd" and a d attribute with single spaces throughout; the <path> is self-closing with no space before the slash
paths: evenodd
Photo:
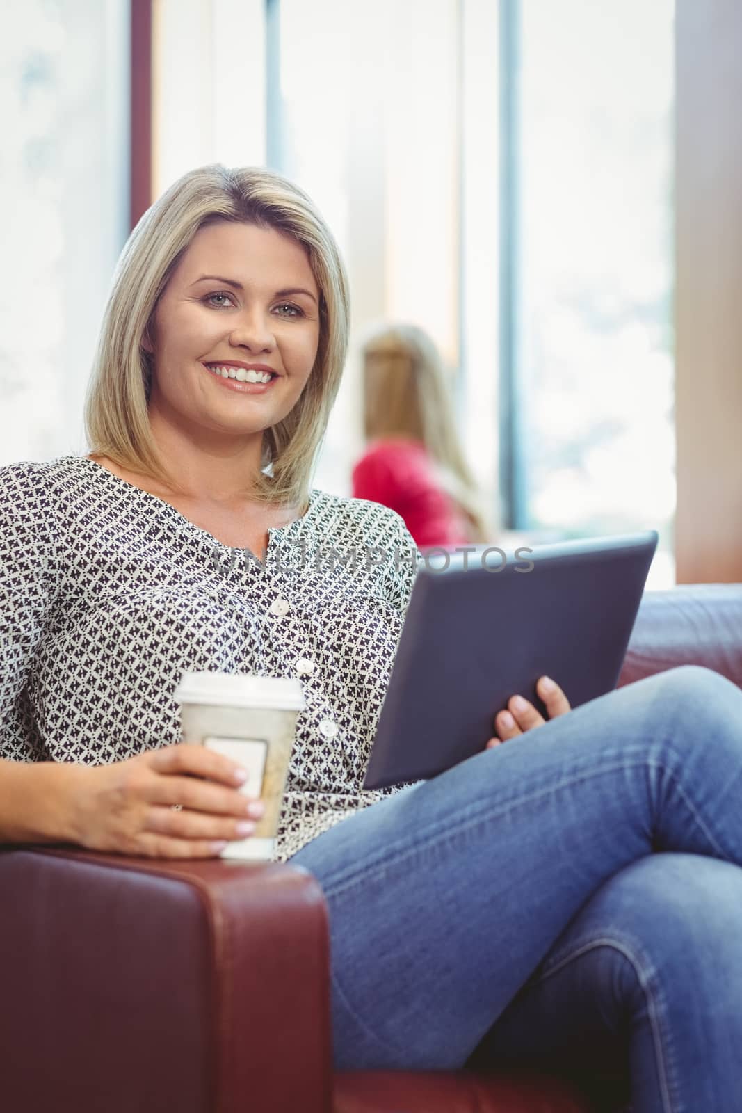
<path id="1" fill-rule="evenodd" d="M 210 858 L 250 835 L 263 815 L 263 804 L 238 790 L 244 771 L 204 746 L 181 742 L 113 765 L 67 768 L 65 826 L 91 850 Z"/>

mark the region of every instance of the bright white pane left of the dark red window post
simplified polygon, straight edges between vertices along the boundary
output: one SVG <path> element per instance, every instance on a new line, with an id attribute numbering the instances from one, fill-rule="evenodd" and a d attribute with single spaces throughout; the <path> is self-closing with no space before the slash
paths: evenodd
<path id="1" fill-rule="evenodd" d="M 127 235 L 128 0 L 0 8 L 0 463 L 85 450 Z"/>

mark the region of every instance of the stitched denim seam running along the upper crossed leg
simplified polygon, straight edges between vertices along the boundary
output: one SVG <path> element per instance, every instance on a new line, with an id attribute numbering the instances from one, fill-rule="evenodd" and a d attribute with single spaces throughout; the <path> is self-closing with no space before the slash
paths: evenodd
<path id="1" fill-rule="evenodd" d="M 349 870 L 347 870 L 345 876 L 340 874 L 339 877 L 336 876 L 334 880 L 329 881 L 323 880 L 323 889 L 325 892 L 325 895 L 328 897 L 338 896 L 346 889 L 350 889 L 354 886 L 367 884 L 372 870 L 383 873 L 385 869 L 388 869 L 389 867 L 399 866 L 400 864 L 409 859 L 414 859 L 415 857 L 419 856 L 423 853 L 424 848 L 429 847 L 429 845 L 434 843 L 441 835 L 449 835 L 451 837 L 456 837 L 457 835 L 466 834 L 467 831 L 476 827 L 477 824 L 483 821 L 488 823 L 491 820 L 497 819 L 498 817 L 506 815 L 509 810 L 512 810 L 515 807 L 522 807 L 524 804 L 532 804 L 536 800 L 542 799 L 545 796 L 552 795 L 554 791 L 558 791 L 558 789 L 561 788 L 573 787 L 575 785 L 583 784 L 587 780 L 592 780 L 595 777 L 603 777 L 606 774 L 615 772 L 616 770 L 620 769 L 625 770 L 627 768 L 633 768 L 634 765 L 640 765 L 653 769 L 657 768 L 661 769 L 663 772 L 667 772 L 667 769 L 663 762 L 646 761 L 644 757 L 639 757 L 634 762 L 626 762 L 625 760 L 622 760 L 617 764 L 605 766 L 601 769 L 592 770 L 591 772 L 585 774 L 583 776 L 578 776 L 576 778 L 567 778 L 558 781 L 557 784 L 547 785 L 545 788 L 538 789 L 535 792 L 531 792 L 524 796 L 513 797 L 507 802 L 503 804 L 503 806 L 496 811 L 491 810 L 492 808 L 491 801 L 483 800 L 479 807 L 476 808 L 476 810 L 472 809 L 467 810 L 467 812 L 462 817 L 462 819 L 458 820 L 458 823 L 448 821 L 448 824 L 445 826 L 441 824 L 437 825 L 434 824 L 427 830 L 419 831 L 417 844 L 415 846 L 400 849 L 397 853 L 396 857 L 394 856 L 394 846 L 390 847 L 389 844 L 385 844 L 384 847 L 378 850 L 375 858 L 372 858 L 370 860 L 366 859 L 363 865 L 358 865 L 358 863 L 354 861 L 353 866 L 350 867 Z M 687 802 L 685 792 L 680 787 L 677 778 L 672 772 L 670 774 L 670 776 L 672 777 L 673 782 L 677 785 L 684 802 Z M 694 818 L 696 818 L 694 809 L 691 809 L 691 814 L 693 815 Z M 705 826 L 702 826 L 702 830 L 704 835 L 709 837 Z M 423 846 L 423 840 L 425 840 L 425 846 Z M 715 840 L 710 838 L 710 843 L 712 846 L 716 848 L 718 853 L 723 857 L 723 855 L 721 854 L 721 851 L 719 851 L 719 848 L 716 847 Z"/>

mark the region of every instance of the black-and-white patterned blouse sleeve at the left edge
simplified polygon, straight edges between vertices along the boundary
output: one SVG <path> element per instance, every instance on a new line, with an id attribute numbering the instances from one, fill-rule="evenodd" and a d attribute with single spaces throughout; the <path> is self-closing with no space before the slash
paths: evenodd
<path id="1" fill-rule="evenodd" d="M 0 467 L 0 757 L 23 757 L 18 700 L 53 604 L 49 516 L 40 465 Z"/>

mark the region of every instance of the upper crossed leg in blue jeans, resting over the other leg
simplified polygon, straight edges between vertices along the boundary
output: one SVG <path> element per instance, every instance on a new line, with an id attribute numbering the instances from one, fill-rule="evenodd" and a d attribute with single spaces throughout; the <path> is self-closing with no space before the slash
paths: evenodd
<path id="1" fill-rule="evenodd" d="M 653 850 L 742 864 L 742 692 L 684 668 L 357 812 L 320 880 L 342 1067 L 462 1066 L 583 904 Z"/>

